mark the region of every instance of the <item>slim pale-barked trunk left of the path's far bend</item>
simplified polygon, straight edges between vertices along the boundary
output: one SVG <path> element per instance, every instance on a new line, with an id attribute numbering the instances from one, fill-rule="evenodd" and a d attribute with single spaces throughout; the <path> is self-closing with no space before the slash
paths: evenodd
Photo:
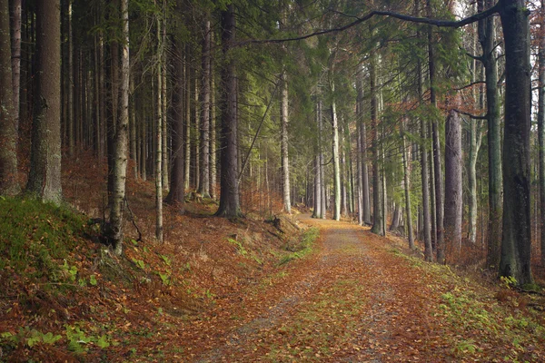
<path id="1" fill-rule="evenodd" d="M 288 155 L 288 75 L 282 70 L 282 92 L 280 97 L 280 123 L 281 123 L 281 158 L 282 158 L 282 196 L 283 208 L 287 213 L 292 213 L 290 197 L 290 159 Z"/>

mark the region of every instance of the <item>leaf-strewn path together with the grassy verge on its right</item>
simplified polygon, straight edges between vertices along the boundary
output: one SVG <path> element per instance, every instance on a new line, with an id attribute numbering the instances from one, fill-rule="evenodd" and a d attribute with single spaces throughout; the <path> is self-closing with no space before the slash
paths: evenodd
<path id="1" fill-rule="evenodd" d="M 322 231 L 312 257 L 182 329 L 173 345 L 186 359 L 545 360 L 543 317 L 531 319 L 517 294 L 402 254 L 399 245 L 362 227 L 302 221 Z"/>

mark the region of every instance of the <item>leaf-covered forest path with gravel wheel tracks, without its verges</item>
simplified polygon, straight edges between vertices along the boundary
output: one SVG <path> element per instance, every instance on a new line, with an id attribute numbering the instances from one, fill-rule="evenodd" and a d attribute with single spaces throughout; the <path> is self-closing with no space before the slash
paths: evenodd
<path id="1" fill-rule="evenodd" d="M 360 226 L 300 220 L 321 230 L 317 252 L 203 324 L 192 361 L 451 360 L 431 277 Z"/>

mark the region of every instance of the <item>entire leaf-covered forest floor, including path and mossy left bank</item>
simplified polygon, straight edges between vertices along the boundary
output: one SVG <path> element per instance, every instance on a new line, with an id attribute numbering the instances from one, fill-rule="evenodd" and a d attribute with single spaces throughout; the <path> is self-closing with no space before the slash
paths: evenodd
<path id="1" fill-rule="evenodd" d="M 104 179 L 68 164 L 68 207 L 0 199 L 0 362 L 545 361 L 542 292 L 351 221 L 228 221 L 187 201 L 183 215 L 165 205 L 159 243 L 153 183 L 129 178 L 113 256 L 89 223 Z"/>

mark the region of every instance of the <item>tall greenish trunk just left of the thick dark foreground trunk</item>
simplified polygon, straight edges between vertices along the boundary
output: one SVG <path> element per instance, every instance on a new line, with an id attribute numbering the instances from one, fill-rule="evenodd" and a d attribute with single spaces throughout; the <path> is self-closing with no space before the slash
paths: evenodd
<path id="1" fill-rule="evenodd" d="M 492 0 L 479 0 L 478 10 L 494 5 Z M 510 3 L 508 1 L 507 3 Z M 502 208 L 501 123 L 498 96 L 498 63 L 496 61 L 494 17 L 479 22 L 479 42 L 486 79 L 486 103 L 489 156 L 489 224 L 487 266 L 496 269 L 500 263 Z"/>

